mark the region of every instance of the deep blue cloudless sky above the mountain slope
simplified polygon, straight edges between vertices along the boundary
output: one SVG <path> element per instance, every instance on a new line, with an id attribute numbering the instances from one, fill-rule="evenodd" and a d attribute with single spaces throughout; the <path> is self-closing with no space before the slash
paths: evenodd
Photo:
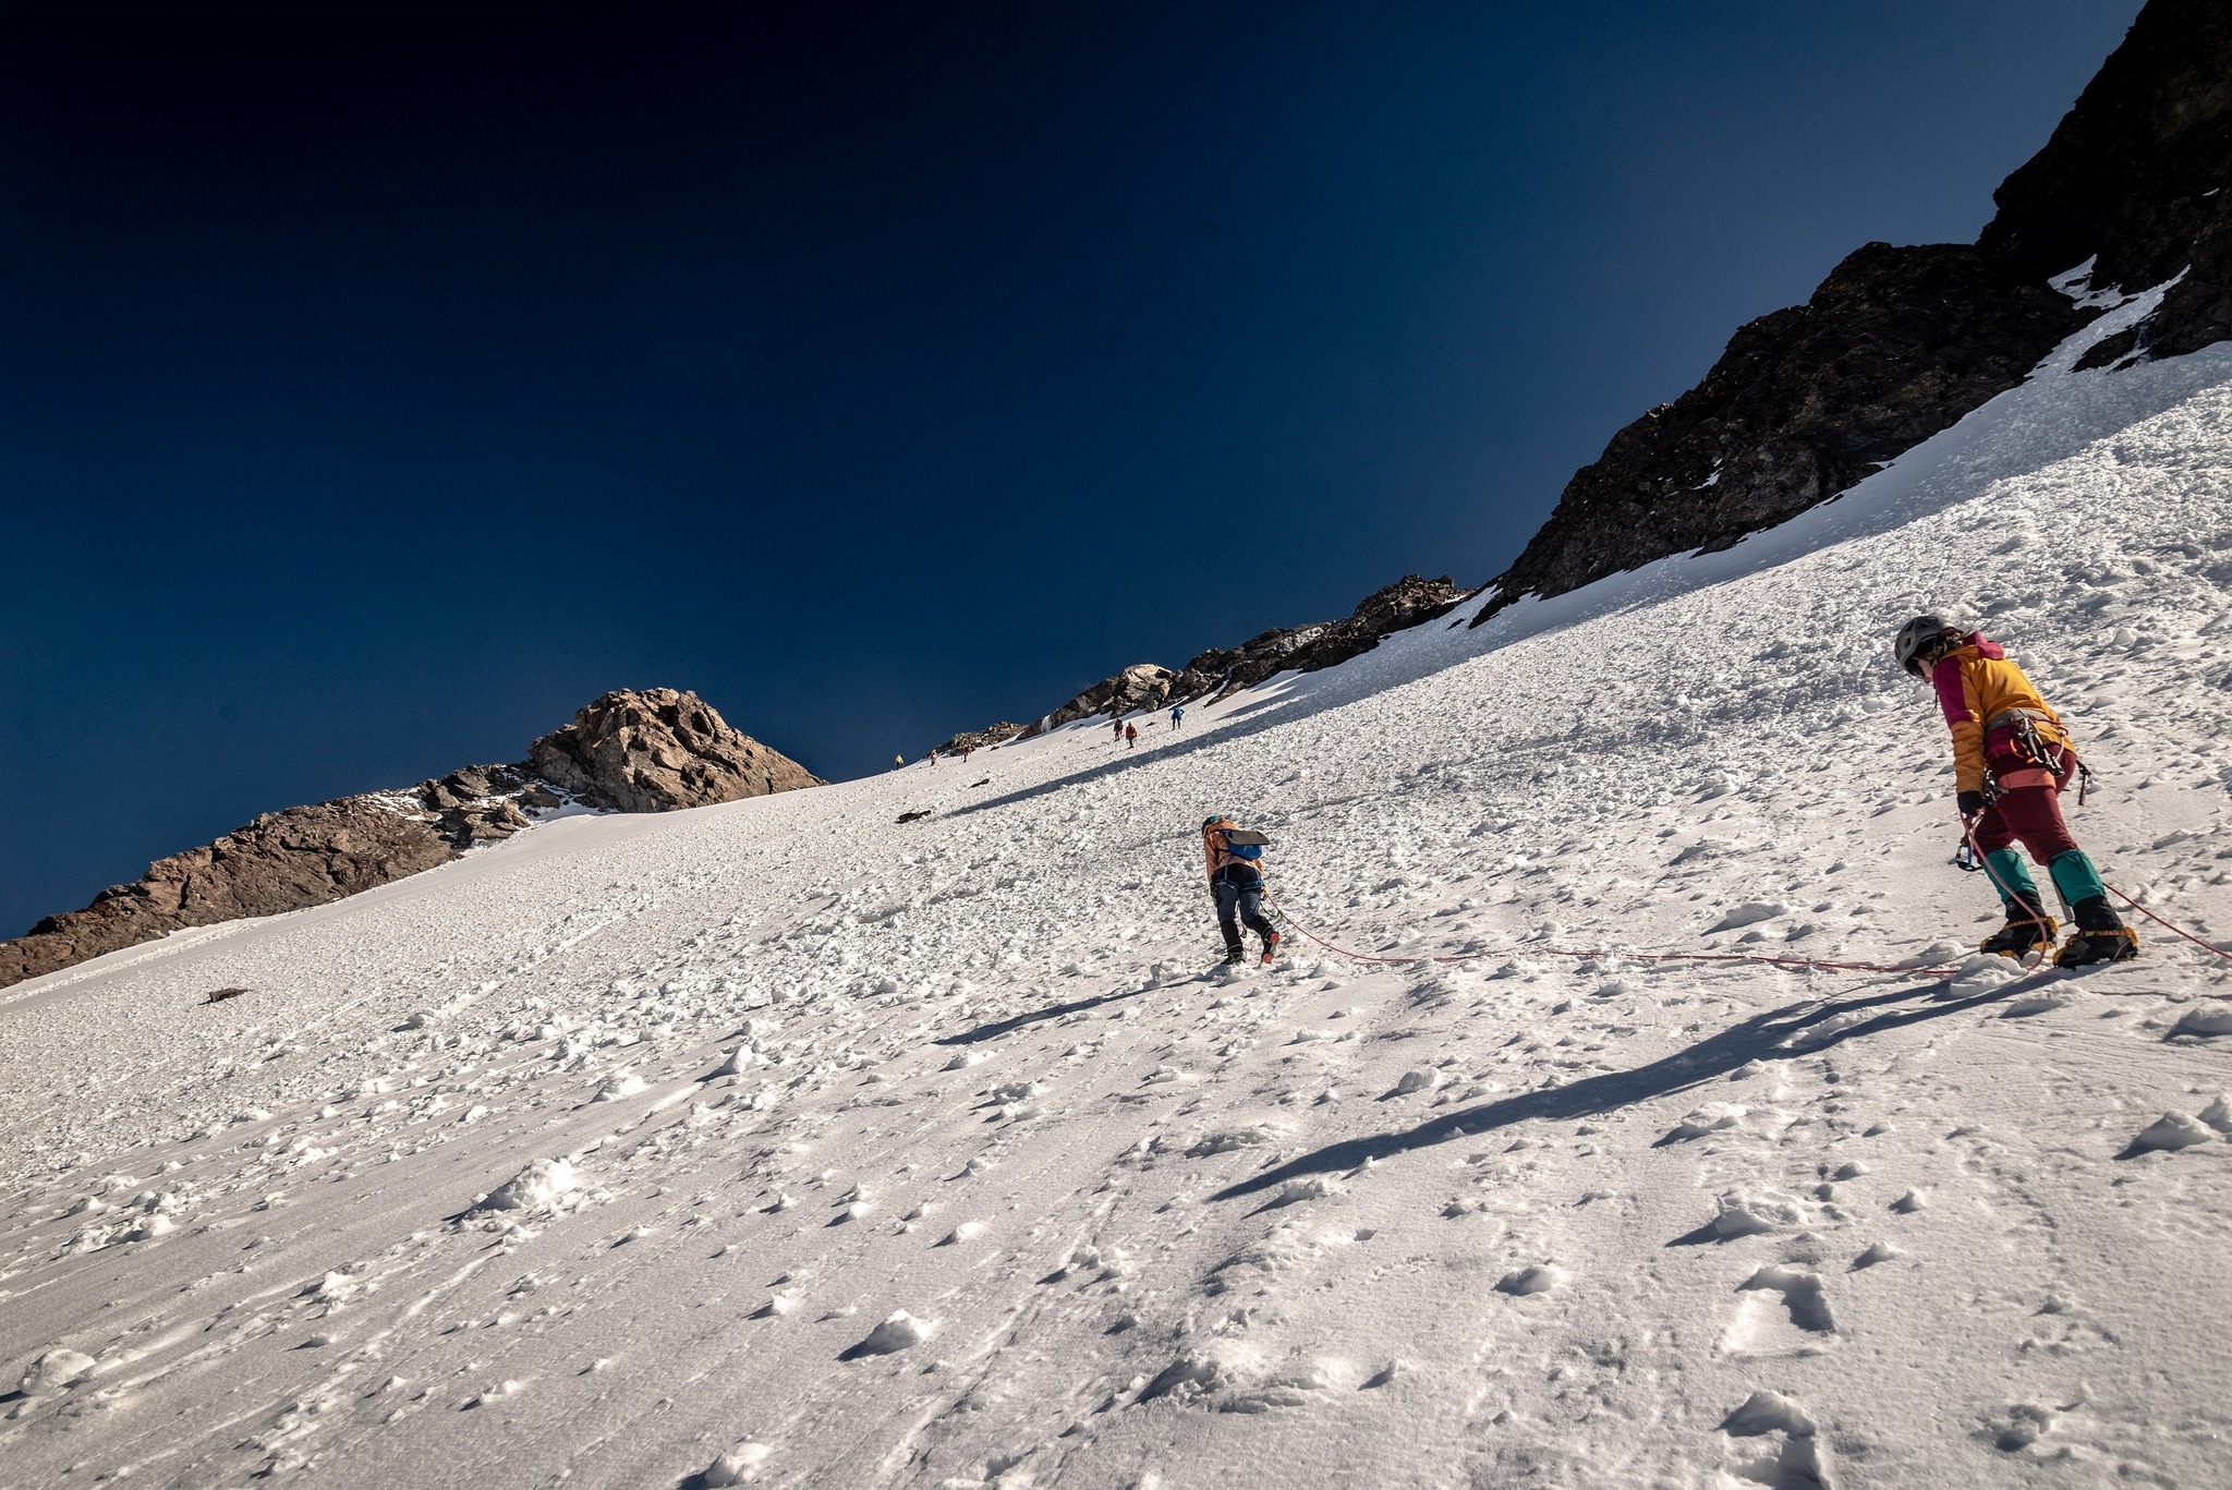
<path id="1" fill-rule="evenodd" d="M 614 686 L 844 777 L 1482 581 L 2136 11 L 18 4 L 0 934 Z"/>

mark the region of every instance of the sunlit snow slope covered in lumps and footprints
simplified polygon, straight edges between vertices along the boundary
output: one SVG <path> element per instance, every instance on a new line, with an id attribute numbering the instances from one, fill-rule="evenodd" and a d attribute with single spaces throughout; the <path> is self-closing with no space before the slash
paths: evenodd
<path id="1" fill-rule="evenodd" d="M 2074 357 L 1134 751 L 549 822 L 20 985 L 0 1479 L 2232 1481 L 2232 965 L 1971 958 L 1888 661 L 2004 637 L 2107 878 L 2232 936 L 2232 348 Z M 1462 961 L 1203 972 L 1216 811 L 1299 925 Z"/>

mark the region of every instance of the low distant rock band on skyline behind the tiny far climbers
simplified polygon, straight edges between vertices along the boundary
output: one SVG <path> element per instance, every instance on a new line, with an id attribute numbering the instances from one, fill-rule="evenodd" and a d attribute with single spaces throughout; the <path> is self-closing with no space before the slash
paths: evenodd
<path id="1" fill-rule="evenodd" d="M 1094 715 L 1120 717 L 1143 708 L 1170 708 L 1172 704 L 1192 704 L 1194 699 L 1221 699 L 1228 693 L 1261 684 L 1274 672 L 1315 672 L 1317 668 L 1330 668 L 1348 661 L 1350 657 L 1370 652 L 1379 646 L 1379 639 L 1391 632 L 1422 625 L 1440 614 L 1446 614 L 1451 605 L 1464 599 L 1464 594 L 1466 592 L 1457 590 L 1446 574 L 1442 579 L 1404 574 L 1393 585 L 1364 596 L 1364 601 L 1339 621 L 1319 621 L 1315 625 L 1297 625 L 1292 630 L 1268 630 L 1261 637 L 1250 637 L 1237 648 L 1212 648 L 1201 652 L 1176 672 L 1152 661 L 1132 663 L 1116 677 L 1100 679 L 1029 726 L 995 724 L 987 730 L 955 735 L 946 744 L 937 746 L 937 753 L 944 755 L 946 751 L 955 751 L 962 742 L 982 748 L 1007 744 L 1009 739 L 1029 739 L 1078 719 L 1091 719 Z"/>

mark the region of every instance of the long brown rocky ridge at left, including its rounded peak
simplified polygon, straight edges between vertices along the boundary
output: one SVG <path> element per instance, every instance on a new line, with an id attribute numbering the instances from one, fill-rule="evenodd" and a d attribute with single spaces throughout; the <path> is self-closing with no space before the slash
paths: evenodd
<path id="1" fill-rule="evenodd" d="M 408 791 L 263 813 L 172 853 L 83 911 L 0 943 L 0 987 L 185 927 L 341 900 L 509 838 L 567 804 L 663 813 L 815 786 L 797 762 L 728 726 L 694 693 L 607 693 L 518 766 L 466 766 Z"/>

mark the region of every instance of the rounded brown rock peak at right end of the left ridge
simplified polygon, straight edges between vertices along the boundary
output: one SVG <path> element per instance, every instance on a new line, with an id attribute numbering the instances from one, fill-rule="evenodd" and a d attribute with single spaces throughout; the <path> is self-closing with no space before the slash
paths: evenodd
<path id="1" fill-rule="evenodd" d="M 525 771 L 587 806 L 623 813 L 670 813 L 821 784 L 788 755 L 730 728 L 705 699 L 672 688 L 607 693 L 538 739 Z"/>

